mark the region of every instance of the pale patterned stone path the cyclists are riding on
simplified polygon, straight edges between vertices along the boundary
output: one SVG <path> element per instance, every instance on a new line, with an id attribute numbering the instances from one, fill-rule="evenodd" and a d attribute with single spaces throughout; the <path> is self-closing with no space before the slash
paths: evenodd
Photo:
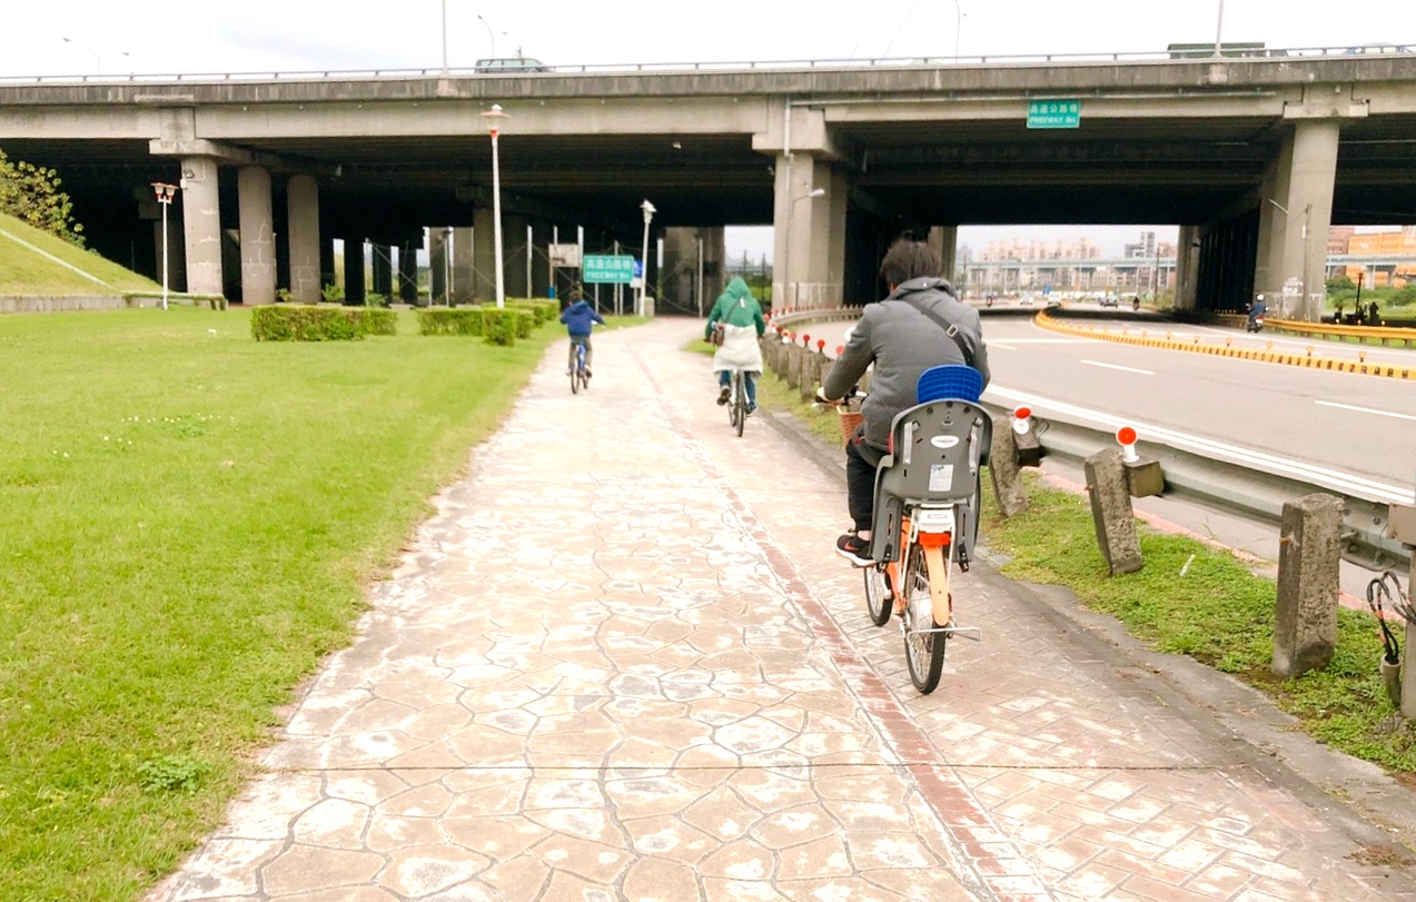
<path id="1" fill-rule="evenodd" d="M 735 438 L 694 334 L 579 396 L 548 353 L 149 902 L 1416 899 L 987 566 L 918 697 L 841 480 Z"/>

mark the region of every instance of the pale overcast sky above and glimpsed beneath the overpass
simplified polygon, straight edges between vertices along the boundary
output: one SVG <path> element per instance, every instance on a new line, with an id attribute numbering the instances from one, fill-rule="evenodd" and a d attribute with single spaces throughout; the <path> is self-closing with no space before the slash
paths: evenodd
<path id="1" fill-rule="evenodd" d="M 1219 0 L 47 0 L 23 40 L 10 34 L 0 78 L 408 69 L 518 52 L 549 65 L 869 59 L 1161 52 L 1212 42 Z M 1416 45 L 1413 0 L 1223 0 L 1225 41 L 1269 47 Z M 480 17 L 480 18 L 479 18 Z M 957 27 L 960 25 L 961 27 Z M 65 41 L 65 38 L 69 38 Z M 987 245 L 997 229 L 961 229 Z M 1087 234 L 1120 251 L 1137 229 L 1007 229 L 1049 241 Z M 1112 232 L 1114 231 L 1114 236 Z M 1172 234 L 1172 229 L 1170 229 Z M 760 229 L 735 232 L 760 253 Z"/>

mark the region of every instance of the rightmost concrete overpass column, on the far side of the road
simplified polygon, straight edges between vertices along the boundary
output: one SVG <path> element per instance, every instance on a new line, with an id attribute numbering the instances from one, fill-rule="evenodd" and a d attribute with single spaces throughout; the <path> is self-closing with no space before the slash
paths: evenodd
<path id="1" fill-rule="evenodd" d="M 1296 122 L 1264 177 L 1255 280 L 1279 300 L 1269 309 L 1280 316 L 1317 321 L 1323 310 L 1341 130 L 1335 119 Z"/>

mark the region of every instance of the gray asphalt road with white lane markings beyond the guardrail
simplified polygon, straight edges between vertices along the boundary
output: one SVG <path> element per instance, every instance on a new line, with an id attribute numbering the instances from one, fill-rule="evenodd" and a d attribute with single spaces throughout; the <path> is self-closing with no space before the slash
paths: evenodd
<path id="1" fill-rule="evenodd" d="M 1410 500 L 1416 483 L 1416 384 L 1301 367 L 1078 338 L 1032 324 L 1035 309 L 984 310 L 993 382 L 984 395 L 1028 404 L 1042 416 L 1100 428 L 1131 425 L 1151 438 L 1219 460 L 1242 462 L 1375 500 Z M 1020 316 L 1021 314 L 1021 316 Z M 1120 320 L 1113 323 L 1120 326 Z M 1141 324 L 1130 321 L 1133 329 Z M 834 348 L 850 323 L 811 329 Z M 1306 353 L 1313 341 L 1246 336 L 1242 329 L 1153 330 L 1204 341 Z M 1357 346 L 1318 343 L 1351 355 Z M 1368 360 L 1416 367 L 1416 351 L 1365 348 Z"/>

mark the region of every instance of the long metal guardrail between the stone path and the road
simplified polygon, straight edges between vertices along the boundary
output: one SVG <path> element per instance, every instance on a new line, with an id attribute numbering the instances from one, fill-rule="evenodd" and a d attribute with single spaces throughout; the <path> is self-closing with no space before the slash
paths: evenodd
<path id="1" fill-rule="evenodd" d="M 804 323 L 857 319 L 858 309 L 783 310 L 772 317 L 777 327 Z M 1011 406 L 984 401 L 993 413 L 1008 415 Z M 1049 455 L 1079 463 L 1090 455 L 1110 447 L 1116 438 L 1110 428 L 1102 429 L 1063 416 L 1038 416 L 1038 442 Z M 1259 467 L 1231 460 L 1215 460 L 1195 452 L 1172 447 L 1141 436 L 1137 452 L 1160 460 L 1165 474 L 1165 494 L 1188 501 L 1240 514 L 1257 523 L 1277 527 L 1284 501 L 1321 491 L 1342 498 L 1344 531 L 1342 556 L 1371 569 L 1409 568 L 1412 551 L 1388 535 L 1391 508 L 1386 501 L 1352 494 L 1332 486 L 1281 476 Z"/>

